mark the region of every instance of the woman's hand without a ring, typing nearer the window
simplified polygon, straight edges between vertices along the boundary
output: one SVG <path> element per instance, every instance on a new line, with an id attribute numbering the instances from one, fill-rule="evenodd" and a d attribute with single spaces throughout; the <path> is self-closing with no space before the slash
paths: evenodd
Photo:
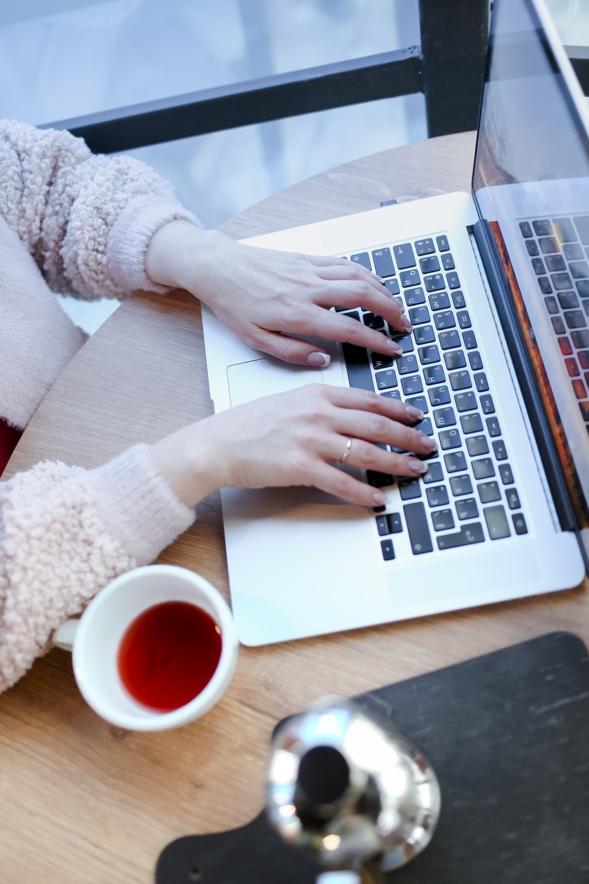
<path id="1" fill-rule="evenodd" d="M 319 337 L 399 355 L 379 331 L 330 310 L 362 306 L 407 334 L 409 320 L 371 271 L 343 258 L 246 246 L 218 231 L 171 221 L 149 242 L 146 271 L 155 282 L 192 292 L 250 347 L 297 365 L 324 367 Z"/>

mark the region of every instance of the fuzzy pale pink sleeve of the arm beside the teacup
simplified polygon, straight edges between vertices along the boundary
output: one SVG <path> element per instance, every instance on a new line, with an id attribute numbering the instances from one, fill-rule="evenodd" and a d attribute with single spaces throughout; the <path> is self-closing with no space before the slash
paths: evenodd
<path id="1" fill-rule="evenodd" d="M 0 483 L 0 690 L 49 650 L 61 622 L 193 522 L 148 451 L 88 471 L 44 461 Z"/>

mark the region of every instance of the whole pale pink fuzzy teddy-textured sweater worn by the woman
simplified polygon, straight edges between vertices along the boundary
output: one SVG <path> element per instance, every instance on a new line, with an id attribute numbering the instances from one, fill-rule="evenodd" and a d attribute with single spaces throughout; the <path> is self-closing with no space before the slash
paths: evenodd
<path id="1" fill-rule="evenodd" d="M 197 224 L 148 166 L 93 156 L 69 133 L 0 121 L 0 417 L 23 429 L 84 335 L 51 294 L 165 293 L 151 235 Z M 105 583 L 146 564 L 194 519 L 147 446 L 99 469 L 44 461 L 0 482 L 0 690 Z"/>

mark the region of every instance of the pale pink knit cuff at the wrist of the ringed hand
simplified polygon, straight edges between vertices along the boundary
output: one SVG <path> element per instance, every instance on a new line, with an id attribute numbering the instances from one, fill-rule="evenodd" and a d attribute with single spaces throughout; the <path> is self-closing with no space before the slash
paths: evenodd
<path id="1" fill-rule="evenodd" d="M 147 445 L 134 446 L 86 474 L 103 524 L 139 565 L 156 559 L 195 520 L 148 452 Z"/>

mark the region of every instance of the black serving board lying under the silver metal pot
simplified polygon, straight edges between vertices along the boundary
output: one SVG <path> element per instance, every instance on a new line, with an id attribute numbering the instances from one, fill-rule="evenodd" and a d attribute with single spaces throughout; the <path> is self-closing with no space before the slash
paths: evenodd
<path id="1" fill-rule="evenodd" d="M 589 882 L 589 659 L 559 632 L 356 697 L 425 752 L 442 811 L 394 884 Z M 157 884 L 312 884 L 319 870 L 258 816 L 189 835 Z"/>

